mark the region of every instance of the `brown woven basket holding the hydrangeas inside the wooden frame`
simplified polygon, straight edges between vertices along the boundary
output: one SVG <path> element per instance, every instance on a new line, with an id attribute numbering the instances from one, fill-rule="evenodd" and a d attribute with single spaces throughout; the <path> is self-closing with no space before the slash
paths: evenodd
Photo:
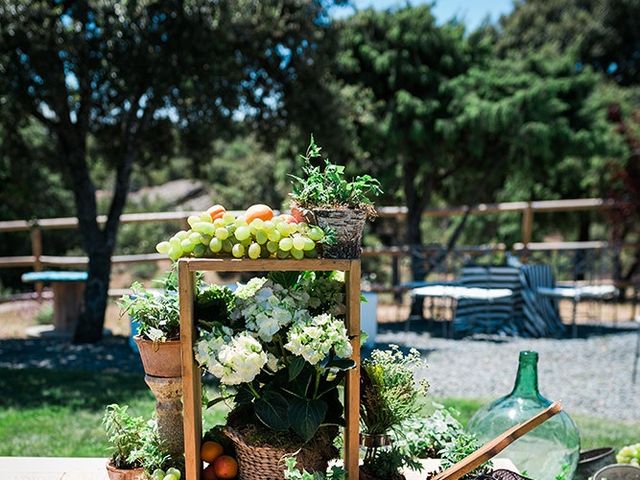
<path id="1" fill-rule="evenodd" d="M 298 468 L 312 472 L 327 471 L 328 460 L 313 455 L 311 449 L 288 452 L 282 448 L 256 447 L 248 445 L 242 434 L 233 428 L 225 427 L 224 433 L 236 447 L 240 470 L 238 480 L 284 480 L 284 461 L 292 455 L 296 456 Z M 310 446 L 313 448 L 313 442 Z"/>

